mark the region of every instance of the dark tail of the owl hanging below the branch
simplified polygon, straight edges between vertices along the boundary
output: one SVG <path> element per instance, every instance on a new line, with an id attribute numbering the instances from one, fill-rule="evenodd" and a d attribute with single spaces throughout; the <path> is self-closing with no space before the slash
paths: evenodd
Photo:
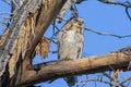
<path id="1" fill-rule="evenodd" d="M 68 76 L 68 77 L 64 77 L 63 79 L 67 82 L 69 87 L 74 86 L 75 83 L 78 82 L 78 77 L 76 76 Z"/>

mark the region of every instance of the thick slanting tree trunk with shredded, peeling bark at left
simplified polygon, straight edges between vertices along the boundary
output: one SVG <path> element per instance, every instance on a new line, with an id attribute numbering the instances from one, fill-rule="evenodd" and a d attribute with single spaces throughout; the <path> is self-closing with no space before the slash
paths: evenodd
<path id="1" fill-rule="evenodd" d="M 36 45 L 66 1 L 27 0 L 17 10 L 0 49 L 0 87 L 14 87 L 23 61 L 32 62 Z"/>

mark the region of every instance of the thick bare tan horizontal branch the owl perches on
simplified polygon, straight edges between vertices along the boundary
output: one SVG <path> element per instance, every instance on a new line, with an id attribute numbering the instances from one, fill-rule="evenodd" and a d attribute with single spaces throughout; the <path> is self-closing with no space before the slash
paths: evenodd
<path id="1" fill-rule="evenodd" d="M 117 69 L 129 71 L 127 67 L 130 60 L 130 55 L 118 51 L 78 60 L 47 62 L 35 65 L 35 67 L 40 69 L 38 72 L 25 70 L 22 74 L 21 83 L 17 83 L 16 86 L 37 84 L 69 75 L 93 74 Z"/>

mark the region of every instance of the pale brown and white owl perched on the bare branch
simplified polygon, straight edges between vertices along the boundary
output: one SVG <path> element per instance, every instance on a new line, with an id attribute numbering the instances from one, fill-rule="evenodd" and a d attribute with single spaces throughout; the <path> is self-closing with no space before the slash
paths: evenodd
<path id="1" fill-rule="evenodd" d="M 73 60 L 82 57 L 84 42 L 84 21 L 73 17 L 67 22 L 58 34 L 58 58 L 59 60 Z M 69 87 L 75 85 L 76 76 L 64 77 Z"/>

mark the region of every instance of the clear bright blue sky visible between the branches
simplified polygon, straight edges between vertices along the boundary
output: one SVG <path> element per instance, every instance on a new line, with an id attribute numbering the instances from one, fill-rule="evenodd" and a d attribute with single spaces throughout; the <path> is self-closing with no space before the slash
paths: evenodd
<path id="1" fill-rule="evenodd" d="M 126 0 L 119 0 L 119 1 L 126 1 Z M 104 4 L 97 0 L 87 0 L 81 4 L 78 4 L 76 7 L 80 13 L 80 17 L 83 17 L 85 21 L 86 27 L 102 33 L 111 33 L 121 36 L 131 35 L 131 22 L 129 21 L 123 7 Z M 0 5 L 0 12 L 1 11 L 7 11 L 7 8 Z M 130 14 L 131 14 L 131 10 L 130 10 Z M 68 18 L 69 15 L 70 15 L 70 11 L 67 13 Z M 57 26 L 59 28 L 61 27 L 61 25 L 57 25 Z M 0 25 L 0 32 L 1 30 L 2 27 Z M 52 34 L 52 26 L 49 27 L 45 36 L 51 37 L 51 34 Z M 131 45 L 131 37 L 119 39 L 111 36 L 100 36 L 87 30 L 84 32 L 84 36 L 85 36 L 85 44 L 83 50 L 84 57 L 108 53 Z M 50 50 L 56 51 L 57 46 L 51 44 Z M 57 60 L 57 53 L 55 54 L 49 53 L 46 60 L 41 60 L 40 55 L 37 55 L 34 60 L 34 63 L 51 61 L 51 60 Z M 88 75 L 88 77 L 90 78 L 97 77 L 97 75 L 99 74 L 92 74 Z M 131 72 L 121 74 L 122 77 L 127 77 L 128 75 L 131 76 Z M 85 76 L 80 76 L 80 80 L 82 79 L 84 80 Z M 38 85 L 40 85 L 41 87 L 68 87 L 62 78 L 55 80 L 52 84 L 43 83 Z M 100 83 L 96 84 L 96 87 L 98 86 L 109 87 L 108 85 Z M 80 85 L 80 87 L 82 86 Z M 95 83 L 88 83 L 84 87 L 95 87 Z"/>

